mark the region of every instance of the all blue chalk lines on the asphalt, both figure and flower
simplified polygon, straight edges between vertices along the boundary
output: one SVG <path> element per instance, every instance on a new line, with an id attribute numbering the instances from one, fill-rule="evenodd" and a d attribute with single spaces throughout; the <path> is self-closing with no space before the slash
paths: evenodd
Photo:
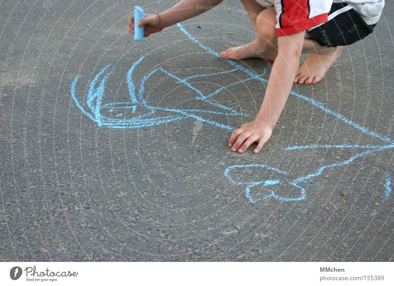
<path id="1" fill-rule="evenodd" d="M 199 74 L 199 75 L 193 75 L 185 78 L 178 77 L 163 68 L 157 68 L 152 70 L 148 75 L 142 78 L 141 83 L 139 86 L 135 86 L 133 82 L 133 73 L 138 67 L 138 65 L 143 61 L 144 57 L 140 57 L 137 61 L 135 61 L 127 75 L 127 83 L 129 86 L 129 95 L 130 95 L 130 102 L 115 102 L 115 103 L 106 103 L 103 104 L 103 96 L 104 96 L 104 88 L 105 88 L 105 83 L 106 80 L 109 77 L 109 72 L 108 69 L 111 66 L 111 64 L 108 64 L 104 68 L 102 68 L 99 73 L 95 76 L 95 78 L 92 80 L 90 83 L 89 91 L 86 96 L 86 105 L 87 109 L 84 108 L 84 106 L 80 103 L 80 99 L 76 96 L 76 84 L 78 82 L 78 77 L 74 79 L 74 81 L 71 84 L 71 96 L 73 101 L 75 102 L 76 106 L 81 110 L 81 112 L 85 115 L 87 115 L 90 119 L 95 121 L 98 126 L 100 127 L 110 127 L 110 128 L 141 128 L 141 127 L 149 127 L 149 126 L 156 126 L 160 124 L 166 124 L 170 122 L 174 122 L 177 120 L 185 120 L 185 119 L 194 119 L 194 121 L 198 120 L 203 123 L 208 123 L 211 124 L 215 127 L 218 128 L 223 128 L 227 130 L 233 130 L 234 127 L 225 125 L 223 123 L 213 121 L 211 119 L 207 119 L 203 117 L 203 114 L 215 114 L 215 115 L 225 115 L 225 116 L 247 116 L 247 114 L 242 114 L 230 107 L 227 107 L 225 105 L 219 104 L 217 102 L 214 102 L 211 100 L 211 98 L 215 97 L 218 95 L 221 91 L 225 90 L 226 88 L 230 86 L 236 86 L 241 83 L 245 83 L 248 81 L 252 80 L 257 80 L 261 81 L 264 84 L 267 84 L 268 81 L 263 78 L 265 75 L 266 70 L 263 71 L 262 74 L 258 75 L 254 71 L 252 71 L 249 68 L 246 68 L 244 66 L 241 66 L 237 62 L 230 60 L 230 59 L 223 59 L 220 57 L 219 53 L 212 50 L 211 48 L 203 45 L 200 41 L 197 40 L 193 35 L 191 35 L 181 24 L 177 24 L 178 28 L 193 42 L 195 42 L 200 48 L 202 48 L 204 51 L 207 53 L 211 54 L 214 57 L 220 58 L 221 60 L 229 63 L 232 66 L 232 69 L 228 71 L 223 71 L 223 72 L 216 72 L 216 73 L 210 73 L 210 74 Z M 236 82 L 233 82 L 229 84 L 228 86 L 222 86 L 221 88 L 215 90 L 214 92 L 210 94 L 203 94 L 201 90 L 199 90 L 197 87 L 193 86 L 191 83 L 189 83 L 189 80 L 195 79 L 195 78 L 204 78 L 204 77 L 210 77 L 210 76 L 215 76 L 215 75 L 224 75 L 224 74 L 230 74 L 235 71 L 241 71 L 246 74 L 247 78 L 243 80 L 239 80 Z M 198 109 L 171 109 L 171 108 L 159 108 L 159 107 L 154 107 L 149 104 L 149 102 L 145 99 L 145 83 L 156 73 L 163 73 L 167 77 L 174 79 L 177 83 L 183 84 L 184 86 L 187 86 L 191 90 L 196 92 L 196 97 L 195 100 L 200 100 L 203 101 L 209 105 L 212 105 L 213 107 L 221 110 L 221 111 L 211 111 L 211 110 L 198 110 Z M 138 92 L 136 89 L 138 88 Z M 290 181 L 285 181 L 283 178 L 281 179 L 261 179 L 257 181 L 251 181 L 251 182 L 242 182 L 242 181 L 236 181 L 232 178 L 230 172 L 234 169 L 244 169 L 247 170 L 248 168 L 262 168 L 266 169 L 269 171 L 276 172 L 280 175 L 288 176 L 289 174 L 283 170 L 279 170 L 273 167 L 269 167 L 264 164 L 252 164 L 252 165 L 234 165 L 228 167 L 224 171 L 224 175 L 229 179 L 230 182 L 237 184 L 237 185 L 244 185 L 245 187 L 245 195 L 250 200 L 252 203 L 255 203 L 257 201 L 261 200 L 267 200 L 269 198 L 274 198 L 276 200 L 282 200 L 282 201 L 298 201 L 298 200 L 305 200 L 306 199 L 306 186 L 308 182 L 312 178 L 316 178 L 322 175 L 322 173 L 326 170 L 333 169 L 333 168 L 341 168 L 344 166 L 347 166 L 348 164 L 354 162 L 357 159 L 360 159 L 361 157 L 370 155 L 370 154 L 375 154 L 377 152 L 381 152 L 384 150 L 389 150 L 394 148 L 394 140 L 382 135 L 378 134 L 376 132 L 373 132 L 366 127 L 361 126 L 360 124 L 353 122 L 352 120 L 346 118 L 344 115 L 339 114 L 335 111 L 329 110 L 326 108 L 322 103 L 311 99 L 305 95 L 298 94 L 296 91 L 292 90 L 290 92 L 291 95 L 296 96 L 299 99 L 304 100 L 305 102 L 312 104 L 313 106 L 319 108 L 323 112 L 336 117 L 337 119 L 345 122 L 346 124 L 352 126 L 355 129 L 360 130 L 362 133 L 375 137 L 376 139 L 379 139 L 383 141 L 383 144 L 379 145 L 359 145 L 359 144 L 340 144 L 340 145 L 317 145 L 317 144 L 312 144 L 312 145 L 294 145 L 294 146 L 289 146 L 285 148 L 287 151 L 292 151 L 292 150 L 302 150 L 302 149 L 328 149 L 328 148 L 337 148 L 337 149 L 346 149 L 346 148 L 352 148 L 355 150 L 360 150 L 360 153 L 342 161 L 339 163 L 334 163 L 334 164 L 328 164 L 325 166 L 320 167 L 317 171 L 311 172 L 309 174 L 305 174 L 302 176 L 298 176 L 295 179 L 292 179 Z M 107 117 L 102 114 L 102 110 L 108 110 L 108 112 L 114 112 L 115 110 L 119 111 L 119 114 L 115 115 L 115 117 L 120 117 L 122 114 L 124 118 L 113 118 L 113 117 Z M 131 114 L 137 114 L 137 111 L 142 110 L 138 115 L 131 116 L 130 117 L 130 112 Z M 129 114 L 127 114 L 127 111 L 129 111 Z M 154 114 L 156 111 L 162 111 L 162 112 L 168 112 L 169 115 L 165 116 L 160 116 L 160 117 L 154 117 Z M 127 117 L 129 116 L 129 117 Z M 385 173 L 385 194 L 386 194 L 386 199 L 389 198 L 392 190 L 392 183 L 391 183 L 391 172 L 386 172 Z M 280 187 L 282 184 L 289 184 L 290 186 L 296 187 L 299 190 L 299 195 L 295 197 L 282 197 L 278 196 L 274 192 L 274 188 Z M 266 189 L 266 194 L 259 198 L 254 198 L 251 195 L 251 191 L 253 188 L 260 186 L 260 188 L 265 188 Z M 260 190 L 261 191 L 261 190 Z M 376 210 L 374 210 L 371 213 L 371 216 L 376 214 Z"/>

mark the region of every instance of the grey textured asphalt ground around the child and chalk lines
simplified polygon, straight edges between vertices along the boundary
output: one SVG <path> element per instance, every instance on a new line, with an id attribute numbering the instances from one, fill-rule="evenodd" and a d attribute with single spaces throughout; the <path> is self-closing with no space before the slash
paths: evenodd
<path id="1" fill-rule="evenodd" d="M 175 2 L 138 4 L 154 13 Z M 394 138 L 394 5 L 387 2 L 374 34 L 345 47 L 321 83 L 293 90 Z M 193 117 L 115 129 L 99 127 L 82 114 L 71 98 L 71 83 L 78 76 L 77 94 L 86 107 L 90 82 L 109 63 L 107 103 L 130 99 L 127 72 L 142 56 L 133 74 L 137 83 L 160 67 L 180 77 L 232 68 L 176 26 L 134 42 L 126 32 L 133 5 L 129 0 L 0 2 L 1 261 L 394 260 L 394 198 L 387 196 L 385 177 L 394 179 L 393 149 L 303 181 L 303 200 L 277 199 L 301 196 L 289 184 L 297 177 L 365 151 L 285 150 L 289 146 L 388 144 L 299 97 L 290 96 L 272 139 L 258 155 L 231 153 L 230 130 Z M 182 24 L 219 52 L 253 40 L 241 8 L 239 1 L 224 1 Z M 269 62 L 239 64 L 256 73 L 266 69 L 263 78 L 268 78 Z M 245 78 L 238 71 L 193 83 L 208 94 Z M 163 75 L 146 85 L 154 106 L 211 107 Z M 253 119 L 265 87 L 248 81 L 213 98 L 245 116 L 204 118 L 239 127 Z M 247 185 L 234 184 L 224 174 L 230 166 L 250 164 L 287 172 L 258 167 L 230 172 L 243 182 L 280 177 L 279 187 L 251 188 L 254 199 L 271 191 L 277 198 L 251 203 Z"/>

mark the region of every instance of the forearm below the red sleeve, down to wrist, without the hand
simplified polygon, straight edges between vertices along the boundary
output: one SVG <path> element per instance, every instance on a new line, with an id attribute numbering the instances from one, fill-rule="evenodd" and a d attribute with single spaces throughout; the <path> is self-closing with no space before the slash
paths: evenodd
<path id="1" fill-rule="evenodd" d="M 257 119 L 273 128 L 285 106 L 299 64 L 304 33 L 278 38 L 279 52 L 272 66 L 268 86 Z M 283 49 L 281 47 L 284 47 Z"/>

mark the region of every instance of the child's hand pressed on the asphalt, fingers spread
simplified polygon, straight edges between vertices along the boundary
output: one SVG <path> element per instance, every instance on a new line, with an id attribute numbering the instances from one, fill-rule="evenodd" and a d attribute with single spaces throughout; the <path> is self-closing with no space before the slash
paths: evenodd
<path id="1" fill-rule="evenodd" d="M 263 145 L 271 138 L 273 128 L 273 124 L 259 118 L 243 124 L 241 128 L 235 129 L 231 134 L 229 140 L 231 151 L 238 151 L 241 154 L 252 143 L 258 142 L 253 152 L 259 153 Z"/>

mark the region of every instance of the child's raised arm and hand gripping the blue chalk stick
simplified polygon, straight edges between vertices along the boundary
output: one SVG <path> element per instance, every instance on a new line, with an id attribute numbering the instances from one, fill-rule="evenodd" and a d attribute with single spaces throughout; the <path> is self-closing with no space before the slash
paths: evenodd
<path id="1" fill-rule="evenodd" d="M 138 22 L 138 26 L 145 27 L 144 36 L 147 37 L 165 27 L 202 14 L 214 6 L 219 5 L 222 1 L 223 0 L 181 0 L 171 8 L 161 12 L 160 15 L 147 14 L 145 18 Z M 129 23 L 129 32 L 132 33 L 134 30 L 133 18 L 129 16 L 127 21 Z"/>

